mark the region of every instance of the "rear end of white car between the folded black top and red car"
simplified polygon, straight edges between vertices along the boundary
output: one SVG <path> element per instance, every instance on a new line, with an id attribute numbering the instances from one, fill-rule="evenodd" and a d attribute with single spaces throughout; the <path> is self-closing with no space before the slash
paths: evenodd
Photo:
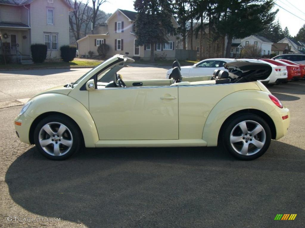
<path id="1" fill-rule="evenodd" d="M 246 61 L 246 62 L 250 62 L 250 63 L 264 63 L 264 64 L 269 64 L 272 67 L 272 72 L 269 75 L 269 77 L 264 80 L 267 81 L 267 84 L 269 85 L 273 85 L 274 83 L 280 83 L 280 82 L 284 82 L 287 81 L 287 77 L 288 77 L 288 71 L 287 68 L 285 66 L 277 66 L 271 63 L 268 63 L 266 61 L 263 60 L 259 60 L 259 59 L 238 59 L 239 61 Z"/>

